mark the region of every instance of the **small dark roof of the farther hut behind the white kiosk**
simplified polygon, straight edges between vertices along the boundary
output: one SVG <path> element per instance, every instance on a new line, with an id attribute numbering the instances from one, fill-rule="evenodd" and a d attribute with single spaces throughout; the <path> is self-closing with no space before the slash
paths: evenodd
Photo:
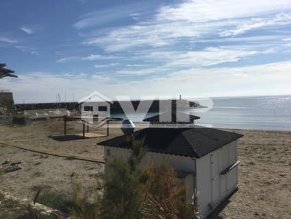
<path id="1" fill-rule="evenodd" d="M 200 119 L 199 116 L 180 113 L 175 111 L 168 111 L 166 113 L 158 114 L 153 117 L 144 119 L 144 122 L 192 122 L 194 119 Z"/>

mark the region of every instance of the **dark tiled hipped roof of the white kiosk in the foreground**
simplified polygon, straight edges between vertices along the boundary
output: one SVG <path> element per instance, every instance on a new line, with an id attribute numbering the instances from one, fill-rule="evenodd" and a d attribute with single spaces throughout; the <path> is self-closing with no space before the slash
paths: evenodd
<path id="1" fill-rule="evenodd" d="M 202 157 L 242 135 L 214 128 L 144 128 L 134 132 L 134 139 L 142 139 L 151 152 Z M 98 143 L 103 146 L 131 148 L 125 136 L 114 137 Z"/>

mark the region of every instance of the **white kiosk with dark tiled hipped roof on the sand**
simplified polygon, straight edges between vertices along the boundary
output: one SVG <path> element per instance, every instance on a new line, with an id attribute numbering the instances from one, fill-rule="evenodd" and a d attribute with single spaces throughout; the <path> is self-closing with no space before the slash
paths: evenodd
<path id="1" fill-rule="evenodd" d="M 238 139 L 242 135 L 199 126 L 188 128 L 144 128 L 133 132 L 133 139 L 143 139 L 149 152 L 142 165 L 167 160 L 186 183 L 186 196 L 197 203 L 205 218 L 238 187 Z M 102 141 L 105 170 L 112 157 L 125 159 L 132 141 L 128 136 Z"/>

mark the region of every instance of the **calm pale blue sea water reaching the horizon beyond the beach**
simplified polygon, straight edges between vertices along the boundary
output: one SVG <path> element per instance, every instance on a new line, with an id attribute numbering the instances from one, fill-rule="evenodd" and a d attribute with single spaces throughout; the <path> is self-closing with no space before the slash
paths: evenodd
<path id="1" fill-rule="evenodd" d="M 214 106 L 206 112 L 187 111 L 201 119 L 195 124 L 217 128 L 251 128 L 291 130 L 291 95 L 264 97 L 216 97 Z M 146 117 L 157 115 L 148 113 Z M 123 114 L 112 115 L 126 118 Z M 144 115 L 129 115 L 134 122 L 142 122 Z"/>

